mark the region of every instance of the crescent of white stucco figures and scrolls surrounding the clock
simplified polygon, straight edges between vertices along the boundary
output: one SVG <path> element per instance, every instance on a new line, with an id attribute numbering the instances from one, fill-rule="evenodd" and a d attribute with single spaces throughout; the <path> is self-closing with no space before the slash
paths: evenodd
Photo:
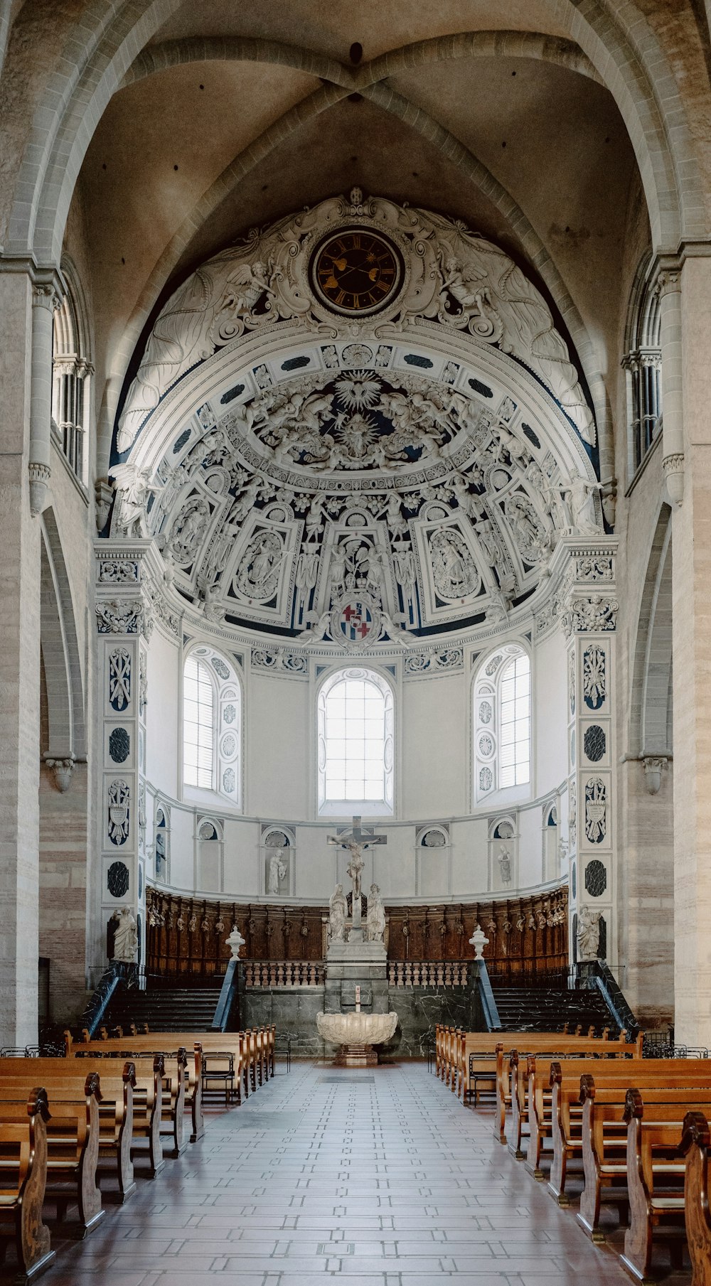
<path id="1" fill-rule="evenodd" d="M 373 228 L 404 260 L 402 284 L 377 318 L 334 315 L 311 291 L 309 266 L 324 234 Z M 127 450 L 145 417 L 171 385 L 216 349 L 276 322 L 298 322 L 339 336 L 386 333 L 432 319 L 467 331 L 525 363 L 564 408 L 581 436 L 594 442 L 593 417 L 566 343 L 543 296 L 498 246 L 460 220 L 396 206 L 379 197 L 333 197 L 203 264 L 161 312 L 118 426 Z"/>

